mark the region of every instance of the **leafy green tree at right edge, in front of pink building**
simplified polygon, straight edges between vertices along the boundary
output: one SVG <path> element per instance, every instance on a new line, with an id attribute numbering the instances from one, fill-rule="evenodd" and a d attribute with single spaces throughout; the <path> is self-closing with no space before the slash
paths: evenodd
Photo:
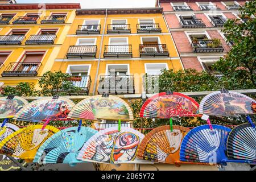
<path id="1" fill-rule="evenodd" d="M 233 89 L 256 88 L 256 1 L 250 1 L 240 7 L 240 19 L 228 20 L 224 25 L 224 34 L 228 42 L 233 43 L 228 54 L 213 65 L 222 72 Z"/>

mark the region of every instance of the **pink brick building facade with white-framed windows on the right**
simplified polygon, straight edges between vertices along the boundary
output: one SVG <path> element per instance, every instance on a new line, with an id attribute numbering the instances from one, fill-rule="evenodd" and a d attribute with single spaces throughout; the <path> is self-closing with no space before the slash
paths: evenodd
<path id="1" fill-rule="evenodd" d="M 212 64 L 232 47 L 221 32 L 228 19 L 241 19 L 246 1 L 159 0 L 184 69 L 214 72 Z M 246 21 L 246 19 L 241 19 Z"/>

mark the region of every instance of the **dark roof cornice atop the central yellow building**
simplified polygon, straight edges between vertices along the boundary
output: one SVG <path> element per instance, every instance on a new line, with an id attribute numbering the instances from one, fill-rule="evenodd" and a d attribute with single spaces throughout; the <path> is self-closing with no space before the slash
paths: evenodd
<path id="1" fill-rule="evenodd" d="M 130 9 L 108 9 L 108 14 L 155 14 L 163 13 L 163 8 L 130 8 Z M 80 9 L 76 10 L 76 15 L 105 15 L 106 9 Z"/>

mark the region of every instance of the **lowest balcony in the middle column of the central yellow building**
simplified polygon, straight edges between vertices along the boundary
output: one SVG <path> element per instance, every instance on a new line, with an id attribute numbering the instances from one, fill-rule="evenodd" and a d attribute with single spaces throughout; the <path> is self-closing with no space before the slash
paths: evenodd
<path id="1" fill-rule="evenodd" d="M 98 94 L 134 94 L 133 75 L 100 76 Z"/>

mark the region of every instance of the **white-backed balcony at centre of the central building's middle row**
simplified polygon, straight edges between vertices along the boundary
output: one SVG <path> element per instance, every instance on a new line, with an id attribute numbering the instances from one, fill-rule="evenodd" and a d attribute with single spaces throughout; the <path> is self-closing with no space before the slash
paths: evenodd
<path id="1" fill-rule="evenodd" d="M 131 45 L 105 45 L 104 57 L 133 57 Z"/>

